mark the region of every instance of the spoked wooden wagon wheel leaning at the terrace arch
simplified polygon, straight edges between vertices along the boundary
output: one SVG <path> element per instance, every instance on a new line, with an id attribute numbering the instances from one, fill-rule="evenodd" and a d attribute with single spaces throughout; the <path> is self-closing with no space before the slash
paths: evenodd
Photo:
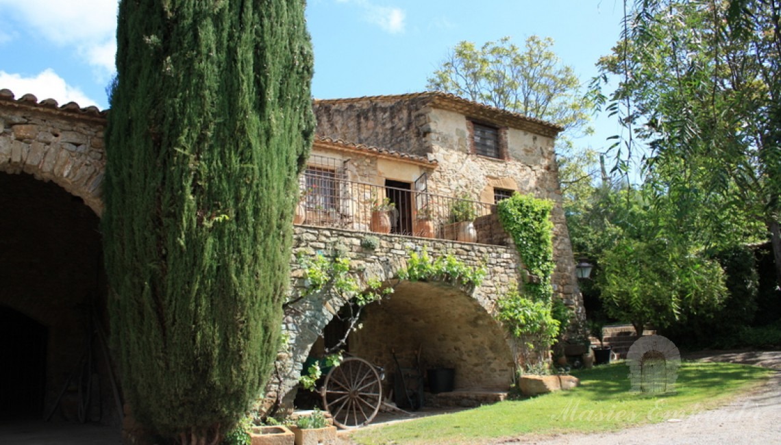
<path id="1" fill-rule="evenodd" d="M 362 358 L 345 358 L 328 372 L 321 394 L 334 424 L 341 428 L 367 425 L 383 401 L 380 373 Z"/>

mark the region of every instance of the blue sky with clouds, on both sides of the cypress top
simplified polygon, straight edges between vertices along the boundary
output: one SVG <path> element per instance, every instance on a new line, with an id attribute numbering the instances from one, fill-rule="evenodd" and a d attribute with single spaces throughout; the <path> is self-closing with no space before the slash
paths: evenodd
<path id="1" fill-rule="evenodd" d="M 483 44 L 536 34 L 584 84 L 619 37 L 619 0 L 309 0 L 316 98 L 423 91 L 426 77 L 459 41 Z M 115 0 L 0 0 L 0 89 L 62 105 L 105 109 L 114 71 Z M 597 118 L 580 141 L 597 150 L 617 133 Z"/>

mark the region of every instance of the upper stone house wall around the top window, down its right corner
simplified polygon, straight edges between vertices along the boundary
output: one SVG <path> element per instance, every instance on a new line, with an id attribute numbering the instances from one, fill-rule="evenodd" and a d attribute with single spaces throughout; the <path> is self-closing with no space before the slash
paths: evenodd
<path id="1" fill-rule="evenodd" d="M 428 181 L 428 191 L 433 194 L 456 197 L 465 193 L 475 201 L 492 203 L 493 190 L 497 187 L 554 201 L 551 212 L 556 262 L 553 287 L 558 297 L 576 311 L 577 317 L 585 320 L 558 183 L 552 136 L 555 131 L 543 134 L 543 131 L 533 133 L 525 125 L 501 126 L 506 131 L 508 158 L 487 158 L 472 153 L 468 116 L 464 112 L 437 108 L 436 100 L 431 100 L 411 94 L 401 98 L 317 101 L 317 132 L 437 160 L 437 169 L 430 173 Z M 478 109 L 480 105 L 473 108 Z M 518 119 L 522 118 L 516 116 Z"/>

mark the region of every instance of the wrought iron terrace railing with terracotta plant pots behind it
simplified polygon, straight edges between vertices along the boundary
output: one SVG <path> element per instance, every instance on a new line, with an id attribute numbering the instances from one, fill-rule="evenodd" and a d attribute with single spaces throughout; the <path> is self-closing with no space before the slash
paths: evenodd
<path id="1" fill-rule="evenodd" d="M 507 240 L 493 204 L 342 180 L 325 169 L 302 176 L 294 223 L 482 244 Z"/>

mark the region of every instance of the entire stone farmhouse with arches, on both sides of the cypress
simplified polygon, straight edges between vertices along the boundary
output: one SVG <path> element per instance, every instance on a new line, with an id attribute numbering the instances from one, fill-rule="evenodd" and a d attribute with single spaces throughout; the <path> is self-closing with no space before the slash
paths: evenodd
<path id="1" fill-rule="evenodd" d="M 389 371 L 454 368 L 437 404 L 501 400 L 512 343 L 494 319 L 497 297 L 524 279 L 495 204 L 519 192 L 555 202 L 561 298 L 583 318 L 561 205 L 554 141 L 561 127 L 442 93 L 314 101 L 317 137 L 301 176 L 291 295 L 266 402 L 292 404 L 308 358 L 344 336 L 338 294 L 304 293 L 298 258 L 350 258 L 362 287 L 394 294 L 366 306 L 345 349 Z M 26 414 L 119 425 L 116 368 L 106 358 L 101 184 L 105 111 L 0 91 L 0 418 Z M 383 215 L 377 204 L 393 203 Z M 473 225 L 451 224 L 454 208 Z M 401 281 L 412 251 L 483 265 L 480 287 Z M 80 406 L 91 401 L 84 412 Z M 449 398 L 448 398 L 449 397 Z M 125 420 L 124 429 L 133 425 Z"/>

